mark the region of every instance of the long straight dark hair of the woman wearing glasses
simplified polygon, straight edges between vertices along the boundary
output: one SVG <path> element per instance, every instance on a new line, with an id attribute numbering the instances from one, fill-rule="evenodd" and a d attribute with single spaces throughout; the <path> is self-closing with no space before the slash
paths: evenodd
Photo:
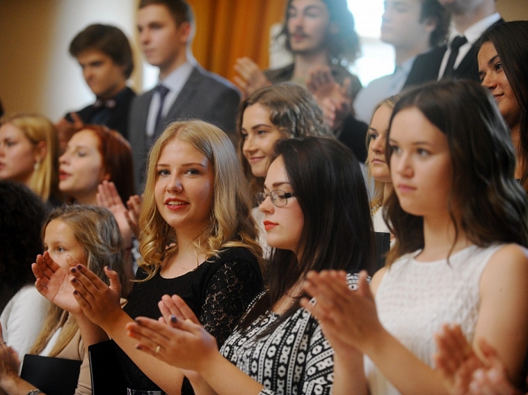
<path id="1" fill-rule="evenodd" d="M 272 308 L 308 271 L 342 269 L 355 273 L 371 270 L 374 262 L 369 197 L 352 151 L 336 139 L 303 137 L 278 140 L 274 158 L 279 156 L 303 210 L 299 241 L 299 251 L 303 253 L 297 260 L 293 251 L 272 249 L 269 291 L 243 318 L 242 328 Z M 298 302 L 273 328 L 297 309 Z"/>

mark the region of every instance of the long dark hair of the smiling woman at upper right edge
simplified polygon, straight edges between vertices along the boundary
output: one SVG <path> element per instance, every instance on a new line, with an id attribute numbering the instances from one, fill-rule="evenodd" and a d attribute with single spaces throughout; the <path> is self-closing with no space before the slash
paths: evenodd
<path id="1" fill-rule="evenodd" d="M 477 49 L 490 42 L 522 111 L 520 117 L 520 185 L 528 192 L 528 21 L 496 23 L 479 39 Z"/>

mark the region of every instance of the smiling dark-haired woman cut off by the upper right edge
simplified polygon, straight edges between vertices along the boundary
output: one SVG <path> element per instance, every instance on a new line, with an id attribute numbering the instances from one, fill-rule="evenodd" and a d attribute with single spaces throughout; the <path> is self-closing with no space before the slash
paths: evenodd
<path id="1" fill-rule="evenodd" d="M 498 23 L 478 41 L 478 72 L 510 128 L 515 178 L 528 192 L 528 21 Z"/>

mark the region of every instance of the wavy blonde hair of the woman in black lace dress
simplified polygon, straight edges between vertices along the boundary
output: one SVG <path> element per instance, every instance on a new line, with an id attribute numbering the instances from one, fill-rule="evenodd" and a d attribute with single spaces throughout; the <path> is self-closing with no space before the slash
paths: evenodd
<path id="1" fill-rule="evenodd" d="M 219 128 L 198 120 L 173 122 L 159 136 L 148 157 L 145 194 L 140 215 L 140 266 L 153 277 L 162 265 L 166 246 L 176 240 L 176 231 L 163 219 L 154 198 L 156 166 L 162 150 L 174 139 L 186 142 L 205 155 L 214 172 L 210 223 L 195 240 L 208 258 L 225 247 L 248 248 L 260 260 L 262 249 L 256 242 L 256 227 L 251 216 L 248 182 L 243 176 L 229 137 Z"/>

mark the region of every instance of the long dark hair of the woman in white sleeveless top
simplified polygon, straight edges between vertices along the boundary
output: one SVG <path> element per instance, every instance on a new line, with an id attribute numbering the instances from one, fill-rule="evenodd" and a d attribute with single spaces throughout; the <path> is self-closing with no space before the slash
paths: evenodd
<path id="1" fill-rule="evenodd" d="M 494 242 L 527 246 L 526 194 L 514 179 L 514 147 L 492 95 L 478 82 L 431 82 L 402 95 L 391 128 L 394 117 L 408 108 L 418 109 L 448 139 L 453 167 L 448 207 L 456 238 L 461 229 L 480 247 Z M 389 166 L 391 154 L 387 144 Z M 423 248 L 423 217 L 404 212 L 394 193 L 388 198 L 384 217 L 396 239 L 388 264 Z"/>

